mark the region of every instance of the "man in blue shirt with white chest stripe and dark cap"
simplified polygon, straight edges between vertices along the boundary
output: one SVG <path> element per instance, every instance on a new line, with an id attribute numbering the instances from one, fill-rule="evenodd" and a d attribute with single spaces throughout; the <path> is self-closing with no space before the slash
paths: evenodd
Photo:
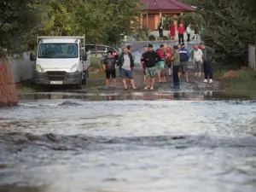
<path id="1" fill-rule="evenodd" d="M 189 82 L 189 49 L 185 48 L 185 44 L 181 44 L 181 48 L 178 49 L 179 58 L 180 58 L 180 69 L 186 76 L 186 82 Z M 180 73 L 179 73 L 180 76 Z"/>

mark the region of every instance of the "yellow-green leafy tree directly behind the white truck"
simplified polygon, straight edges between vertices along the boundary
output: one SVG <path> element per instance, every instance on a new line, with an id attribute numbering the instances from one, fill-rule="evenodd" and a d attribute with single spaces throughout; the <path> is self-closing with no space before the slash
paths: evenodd
<path id="1" fill-rule="evenodd" d="M 41 34 L 85 34 L 86 42 L 117 44 L 131 34 L 142 13 L 138 0 L 49 0 L 45 3 L 48 19 Z M 131 20 L 135 21 L 131 25 Z"/>

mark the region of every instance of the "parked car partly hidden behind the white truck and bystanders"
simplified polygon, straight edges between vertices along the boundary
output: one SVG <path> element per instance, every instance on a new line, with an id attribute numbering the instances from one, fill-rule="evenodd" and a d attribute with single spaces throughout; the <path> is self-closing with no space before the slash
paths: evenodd
<path id="1" fill-rule="evenodd" d="M 97 47 L 97 51 L 96 51 L 96 47 Z M 108 55 L 108 51 L 112 50 L 113 55 L 115 56 L 116 59 L 118 59 L 119 52 L 120 52 L 119 48 L 110 47 L 108 45 L 97 44 L 97 46 L 96 46 L 95 44 L 85 44 L 85 51 L 87 52 L 89 50 L 90 50 L 91 55 L 96 55 L 96 53 L 97 53 L 98 58 L 102 58 L 102 57 Z"/>

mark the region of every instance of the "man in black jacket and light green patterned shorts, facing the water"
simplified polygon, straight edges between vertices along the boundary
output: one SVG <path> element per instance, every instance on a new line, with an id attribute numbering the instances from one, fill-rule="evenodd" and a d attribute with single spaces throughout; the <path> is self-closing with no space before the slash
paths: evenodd
<path id="1" fill-rule="evenodd" d="M 145 75 L 147 78 L 145 90 L 154 90 L 154 82 L 155 82 L 155 75 L 156 75 L 156 67 L 155 64 L 157 61 L 160 60 L 160 56 L 154 52 L 153 44 L 148 44 L 148 52 L 143 55 L 144 67 L 145 67 Z M 149 87 L 151 79 L 151 87 Z"/>

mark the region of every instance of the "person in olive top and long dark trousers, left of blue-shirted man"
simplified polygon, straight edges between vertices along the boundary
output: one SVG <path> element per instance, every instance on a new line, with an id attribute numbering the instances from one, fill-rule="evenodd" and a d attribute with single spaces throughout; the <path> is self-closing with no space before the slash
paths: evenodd
<path id="1" fill-rule="evenodd" d="M 172 50 L 172 79 L 175 89 L 179 89 L 179 78 L 178 78 L 178 71 L 180 65 L 180 58 L 178 53 L 177 45 L 174 45 Z"/>

